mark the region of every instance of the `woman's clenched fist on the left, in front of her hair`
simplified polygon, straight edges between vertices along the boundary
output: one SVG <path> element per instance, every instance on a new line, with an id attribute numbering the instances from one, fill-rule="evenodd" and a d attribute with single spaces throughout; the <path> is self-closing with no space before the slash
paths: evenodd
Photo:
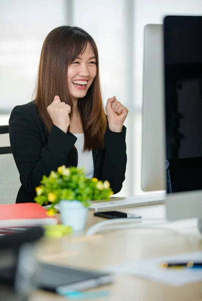
<path id="1" fill-rule="evenodd" d="M 59 96 L 55 95 L 54 100 L 47 107 L 47 112 L 52 120 L 52 123 L 67 132 L 69 126 L 69 113 L 71 111 L 70 105 L 59 99 Z"/>

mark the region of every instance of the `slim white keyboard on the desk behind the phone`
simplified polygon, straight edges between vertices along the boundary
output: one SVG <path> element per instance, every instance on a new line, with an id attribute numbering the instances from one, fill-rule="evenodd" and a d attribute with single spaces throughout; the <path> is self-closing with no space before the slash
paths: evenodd
<path id="1" fill-rule="evenodd" d="M 108 202 L 93 203 L 89 210 L 95 212 L 113 211 L 115 209 L 132 208 L 137 206 L 146 206 L 154 204 L 163 204 L 165 200 L 165 193 L 146 194 L 140 196 L 126 197 L 121 200 L 113 201 L 111 198 Z"/>

